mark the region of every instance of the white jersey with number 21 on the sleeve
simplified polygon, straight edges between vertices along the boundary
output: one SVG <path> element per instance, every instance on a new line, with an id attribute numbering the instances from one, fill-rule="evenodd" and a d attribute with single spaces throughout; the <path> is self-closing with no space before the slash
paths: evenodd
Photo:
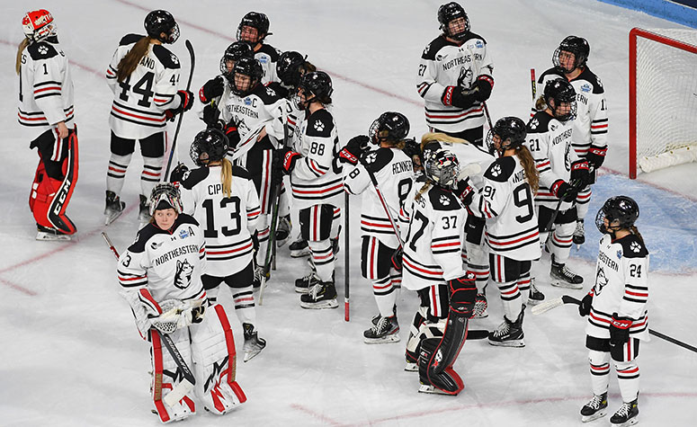
<path id="1" fill-rule="evenodd" d="M 537 171 L 540 173 L 540 190 L 537 191 L 535 202 L 555 209 L 559 200 L 550 190 L 552 184 L 558 180 L 568 182 L 571 177 L 571 164 L 578 160 L 576 151 L 571 149 L 573 122 L 562 122 L 545 111 L 538 111 L 528 122 L 527 130 L 525 146 L 532 153 Z M 570 209 L 573 203 L 563 201 L 559 210 Z"/>

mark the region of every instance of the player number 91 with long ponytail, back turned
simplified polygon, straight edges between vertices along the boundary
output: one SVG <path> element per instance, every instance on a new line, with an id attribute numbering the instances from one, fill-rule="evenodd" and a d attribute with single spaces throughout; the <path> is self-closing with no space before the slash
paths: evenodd
<path id="1" fill-rule="evenodd" d="M 491 280 L 501 293 L 504 323 L 489 334 L 489 343 L 523 347 L 523 315 L 530 287 L 530 267 L 540 259 L 540 235 L 534 195 L 540 175 L 525 143 L 525 122 L 517 117 L 496 121 L 487 146 L 498 155 L 475 191 L 469 180 L 458 184 L 460 200 L 487 219 Z"/>

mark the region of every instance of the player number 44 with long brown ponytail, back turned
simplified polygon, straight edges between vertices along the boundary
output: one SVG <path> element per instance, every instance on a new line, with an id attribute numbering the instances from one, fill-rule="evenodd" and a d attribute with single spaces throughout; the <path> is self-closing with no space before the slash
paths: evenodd
<path id="1" fill-rule="evenodd" d="M 165 158 L 167 120 L 193 105 L 193 93 L 177 90 L 179 59 L 163 46 L 179 39 L 174 16 L 163 10 L 147 13 L 145 30 L 147 36 L 128 34 L 121 39 L 106 70 L 114 94 L 109 117 L 112 156 L 106 174 L 106 225 L 119 218 L 125 207 L 120 194 L 136 140 L 143 156 L 139 221 L 147 222 L 147 195 L 160 181 Z"/>

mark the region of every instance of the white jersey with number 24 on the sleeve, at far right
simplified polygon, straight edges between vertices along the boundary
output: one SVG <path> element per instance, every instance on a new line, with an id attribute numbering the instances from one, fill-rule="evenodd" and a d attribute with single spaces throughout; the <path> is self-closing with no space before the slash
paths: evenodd
<path id="1" fill-rule="evenodd" d="M 593 303 L 585 333 L 610 338 L 612 315 L 632 319 L 630 336 L 648 341 L 648 250 L 639 237 L 630 234 L 612 241 L 600 239 Z"/>

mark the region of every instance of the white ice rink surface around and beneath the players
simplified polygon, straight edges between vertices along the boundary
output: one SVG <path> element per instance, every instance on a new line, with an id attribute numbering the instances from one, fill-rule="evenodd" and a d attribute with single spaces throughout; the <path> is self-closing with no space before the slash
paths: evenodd
<path id="1" fill-rule="evenodd" d="M 267 41 L 295 49 L 334 79 L 335 116 L 345 141 L 365 133 L 380 112 L 402 111 L 411 134 L 425 131 L 423 104 L 416 93 L 422 49 L 438 35 L 441 1 L 235 1 L 168 2 L 181 26 L 173 46 L 188 73 L 183 40 L 197 56 L 192 90 L 218 73 L 219 58 L 234 38 L 244 13 L 267 13 L 273 36 Z M 121 36 L 143 31 L 149 10 L 162 2 L 135 0 L 53 0 L 5 2 L 0 14 L 0 105 L 6 162 L 0 168 L 0 425 L 140 426 L 159 422 L 150 414 L 148 345 L 139 339 L 130 308 L 118 295 L 115 262 L 103 244 L 105 171 L 109 158 L 108 115 L 112 94 L 103 72 Z M 589 66 L 603 79 L 610 111 L 610 149 L 594 187 L 586 220 L 588 242 L 572 249 L 569 266 L 591 286 L 597 230 L 592 218 L 602 201 L 628 194 L 639 201 L 637 223 L 652 253 L 648 311 L 651 328 L 697 344 L 691 310 L 695 297 L 694 212 L 696 165 L 639 175 L 630 182 L 628 147 L 628 33 L 632 27 L 675 28 L 643 13 L 592 0 L 488 0 L 464 4 L 472 31 L 487 40 L 495 63 L 496 87 L 489 102 L 493 120 L 526 117 L 531 104 L 531 67 L 550 67 L 558 42 L 569 34 L 591 45 Z M 27 206 L 37 155 L 28 148 L 31 132 L 16 121 L 16 45 L 23 13 L 49 7 L 73 66 L 76 123 L 80 138 L 79 181 L 68 215 L 77 227 L 72 243 L 36 242 Z M 183 120 L 179 153 L 201 129 L 193 113 Z M 174 126 L 170 129 L 174 133 Z M 109 234 L 120 249 L 137 231 L 140 156 L 134 156 L 121 194 L 128 211 Z M 585 350 L 585 321 L 575 307 L 525 317 L 526 347 L 495 348 L 468 341 L 455 369 L 464 379 L 460 396 L 416 392 L 415 373 L 403 371 L 404 344 L 416 309 L 416 294 L 402 291 L 402 342 L 366 345 L 362 331 L 377 313 L 371 287 L 359 268 L 360 200 L 351 202 L 351 322 L 344 312 L 299 307 L 293 280 L 306 272 L 304 260 L 279 253 L 258 329 L 267 348 L 248 363 L 239 360 L 237 380 L 248 402 L 217 418 L 199 414 L 182 425 L 579 425 L 578 411 L 592 395 Z M 295 233 L 298 230 L 296 228 Z M 344 286 L 344 253 L 338 254 L 337 289 Z M 536 266 L 548 298 L 562 295 L 549 286 L 549 259 Z M 235 322 L 237 348 L 242 330 L 227 290 L 223 303 Z M 490 316 L 471 328 L 496 328 L 501 306 L 490 289 Z M 340 298 L 341 302 L 341 298 Z M 341 307 L 341 304 L 340 304 Z M 694 425 L 697 417 L 697 354 L 654 338 L 639 356 L 640 425 Z M 621 405 L 611 374 L 610 414 Z M 691 421 L 692 420 L 692 421 Z M 587 425 L 606 425 L 608 417 Z"/>

